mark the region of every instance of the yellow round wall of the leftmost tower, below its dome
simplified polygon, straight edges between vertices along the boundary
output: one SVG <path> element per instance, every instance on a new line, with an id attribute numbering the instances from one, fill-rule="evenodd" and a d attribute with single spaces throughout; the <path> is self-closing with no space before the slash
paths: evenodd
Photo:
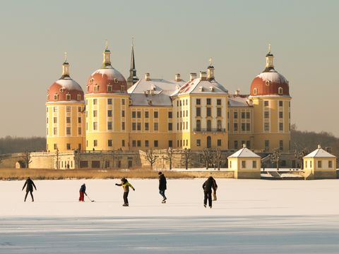
<path id="1" fill-rule="evenodd" d="M 85 149 L 83 102 L 47 102 L 47 151 Z"/>

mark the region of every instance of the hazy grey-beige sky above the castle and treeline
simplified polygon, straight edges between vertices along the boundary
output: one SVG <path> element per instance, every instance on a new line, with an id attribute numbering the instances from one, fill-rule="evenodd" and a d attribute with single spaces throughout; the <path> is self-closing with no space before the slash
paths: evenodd
<path id="1" fill-rule="evenodd" d="M 339 1 L 2 1 L 0 136 L 45 135 L 45 99 L 68 52 L 85 90 L 102 63 L 129 76 L 174 78 L 208 66 L 230 92 L 249 93 L 268 44 L 290 81 L 292 123 L 339 136 Z"/>

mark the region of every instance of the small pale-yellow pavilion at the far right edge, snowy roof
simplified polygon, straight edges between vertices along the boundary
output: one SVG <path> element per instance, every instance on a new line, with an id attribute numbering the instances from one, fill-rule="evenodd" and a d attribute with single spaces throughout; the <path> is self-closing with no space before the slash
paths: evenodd
<path id="1" fill-rule="evenodd" d="M 337 157 L 323 150 L 320 145 L 303 159 L 305 179 L 337 178 Z"/>

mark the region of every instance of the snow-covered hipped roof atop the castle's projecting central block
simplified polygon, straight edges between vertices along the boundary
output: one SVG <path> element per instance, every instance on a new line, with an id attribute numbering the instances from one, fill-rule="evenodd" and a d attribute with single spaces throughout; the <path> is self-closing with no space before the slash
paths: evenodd
<path id="1" fill-rule="evenodd" d="M 228 94 L 228 90 L 215 80 L 201 80 L 201 78 L 195 78 L 184 84 L 172 95 L 216 93 Z"/>

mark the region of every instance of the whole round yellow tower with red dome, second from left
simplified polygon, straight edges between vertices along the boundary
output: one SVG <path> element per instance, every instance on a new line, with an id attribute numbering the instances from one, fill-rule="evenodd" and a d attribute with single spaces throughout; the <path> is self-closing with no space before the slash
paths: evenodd
<path id="1" fill-rule="evenodd" d="M 102 68 L 88 78 L 86 150 L 128 150 L 129 95 L 127 83 L 111 65 L 111 52 L 103 52 Z"/>

